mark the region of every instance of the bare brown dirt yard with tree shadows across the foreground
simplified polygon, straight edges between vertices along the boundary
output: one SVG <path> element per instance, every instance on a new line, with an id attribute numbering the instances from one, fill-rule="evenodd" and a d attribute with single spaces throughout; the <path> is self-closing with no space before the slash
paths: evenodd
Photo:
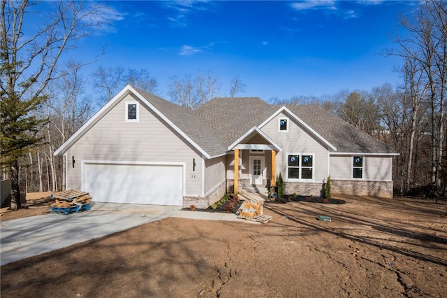
<path id="1" fill-rule="evenodd" d="M 446 297 L 446 201 L 340 199 L 266 204 L 265 225 L 152 222 L 7 264 L 1 297 Z"/>

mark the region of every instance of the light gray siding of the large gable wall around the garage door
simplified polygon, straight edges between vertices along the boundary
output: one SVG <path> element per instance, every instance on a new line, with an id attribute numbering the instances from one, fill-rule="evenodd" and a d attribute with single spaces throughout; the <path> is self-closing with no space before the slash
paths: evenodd
<path id="1" fill-rule="evenodd" d="M 141 104 L 139 121 L 125 122 L 125 101 L 138 99 L 128 95 L 119 101 L 66 152 L 67 189 L 81 189 L 82 161 L 166 162 L 185 163 L 185 194 L 201 195 L 202 166 L 196 166 L 194 172 L 192 167 L 193 158 L 196 164 L 202 164 L 201 154 Z M 72 156 L 75 168 L 71 166 Z"/>

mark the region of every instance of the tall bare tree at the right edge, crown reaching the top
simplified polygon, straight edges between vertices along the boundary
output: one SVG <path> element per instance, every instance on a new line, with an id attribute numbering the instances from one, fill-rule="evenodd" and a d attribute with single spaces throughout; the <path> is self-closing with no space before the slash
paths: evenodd
<path id="1" fill-rule="evenodd" d="M 420 84 L 423 90 L 427 86 L 427 97 L 430 101 L 430 134 L 431 134 L 431 183 L 440 188 L 439 170 L 444 156 L 444 128 L 446 82 L 447 82 L 447 2 L 425 1 L 416 13 L 402 17 L 401 25 L 406 35 L 396 36 L 395 41 L 400 51 L 388 54 L 404 57 L 413 61 L 424 73 L 424 80 L 413 83 Z"/>

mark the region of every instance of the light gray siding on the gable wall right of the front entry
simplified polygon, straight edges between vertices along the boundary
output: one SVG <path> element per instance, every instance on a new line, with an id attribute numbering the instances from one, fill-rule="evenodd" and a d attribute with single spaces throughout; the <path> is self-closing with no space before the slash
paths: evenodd
<path id="1" fill-rule="evenodd" d="M 278 119 L 289 118 L 288 132 L 278 132 Z M 314 136 L 309 135 L 297 122 L 294 122 L 288 115 L 279 114 L 262 128 L 275 143 L 281 146 L 282 151 L 277 152 L 276 173 L 282 173 L 284 180 L 287 180 L 287 155 L 313 154 L 314 155 L 314 182 L 323 182 L 328 177 L 328 149 Z M 302 180 L 302 182 L 311 182 Z"/>

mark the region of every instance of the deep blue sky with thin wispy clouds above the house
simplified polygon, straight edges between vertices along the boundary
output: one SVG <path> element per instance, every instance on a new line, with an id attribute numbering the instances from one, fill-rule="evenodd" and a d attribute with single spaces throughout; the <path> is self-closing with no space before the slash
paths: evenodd
<path id="1" fill-rule="evenodd" d="M 70 55 L 87 66 L 147 69 L 168 99 L 169 77 L 212 70 L 228 96 L 240 76 L 240 96 L 288 99 L 294 95 L 370 90 L 400 77 L 390 34 L 414 1 L 107 1 L 110 24 Z"/>

